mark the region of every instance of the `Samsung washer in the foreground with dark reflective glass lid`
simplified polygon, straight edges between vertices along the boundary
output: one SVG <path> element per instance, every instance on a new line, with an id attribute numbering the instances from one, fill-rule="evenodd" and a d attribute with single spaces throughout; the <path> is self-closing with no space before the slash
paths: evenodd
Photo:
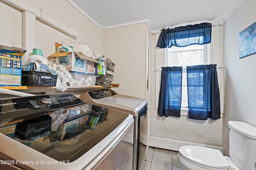
<path id="1" fill-rule="evenodd" d="M 99 110 L 68 93 L 0 99 L 0 169 L 96 169 L 134 126 L 128 113 Z"/>

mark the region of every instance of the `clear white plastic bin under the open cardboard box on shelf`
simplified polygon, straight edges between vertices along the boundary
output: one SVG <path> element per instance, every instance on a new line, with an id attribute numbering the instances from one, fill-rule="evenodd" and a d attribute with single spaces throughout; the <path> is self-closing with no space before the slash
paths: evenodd
<path id="1" fill-rule="evenodd" d="M 75 80 L 75 85 L 93 86 L 96 83 L 97 75 L 70 71 Z"/>

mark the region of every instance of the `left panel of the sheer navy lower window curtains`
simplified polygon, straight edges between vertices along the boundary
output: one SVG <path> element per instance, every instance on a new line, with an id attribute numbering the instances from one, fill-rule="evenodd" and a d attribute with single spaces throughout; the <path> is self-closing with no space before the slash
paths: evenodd
<path id="1" fill-rule="evenodd" d="M 159 116 L 180 117 L 182 67 L 162 67 Z"/>

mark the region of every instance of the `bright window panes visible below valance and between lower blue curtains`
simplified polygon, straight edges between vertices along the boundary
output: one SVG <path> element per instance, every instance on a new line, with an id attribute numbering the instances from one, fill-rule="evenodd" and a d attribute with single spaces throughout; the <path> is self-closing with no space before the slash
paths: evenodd
<path id="1" fill-rule="evenodd" d="M 188 88 L 186 66 L 209 64 L 209 44 L 172 46 L 166 48 L 166 66 L 182 66 L 182 102 L 181 109 L 188 108 Z"/>

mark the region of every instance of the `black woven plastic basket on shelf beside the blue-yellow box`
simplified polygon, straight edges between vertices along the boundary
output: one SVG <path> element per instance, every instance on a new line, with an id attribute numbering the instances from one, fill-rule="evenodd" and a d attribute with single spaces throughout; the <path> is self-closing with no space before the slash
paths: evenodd
<path id="1" fill-rule="evenodd" d="M 56 86 L 58 75 L 40 71 L 22 71 L 22 86 Z"/>

